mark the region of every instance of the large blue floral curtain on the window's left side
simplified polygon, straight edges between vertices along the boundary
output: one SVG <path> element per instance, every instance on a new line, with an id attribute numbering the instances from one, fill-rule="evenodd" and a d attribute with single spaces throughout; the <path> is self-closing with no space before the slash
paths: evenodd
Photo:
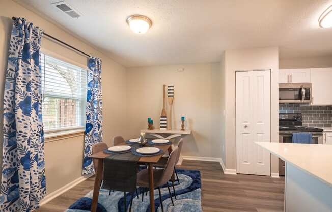
<path id="1" fill-rule="evenodd" d="M 13 21 L 4 94 L 0 211 L 32 211 L 46 193 L 41 113 L 43 32 Z"/>

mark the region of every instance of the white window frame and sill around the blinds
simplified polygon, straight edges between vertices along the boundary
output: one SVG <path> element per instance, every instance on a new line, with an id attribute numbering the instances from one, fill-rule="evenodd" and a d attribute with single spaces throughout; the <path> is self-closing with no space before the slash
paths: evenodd
<path id="1" fill-rule="evenodd" d="M 44 49 L 44 48 L 41 48 L 41 55 L 44 54 L 46 56 L 49 56 L 49 57 L 52 57 L 52 58 L 55 58 L 57 60 L 60 60 L 62 62 L 65 62 L 65 63 L 69 63 L 70 65 L 73 65 L 73 66 L 77 66 L 83 70 L 86 71 L 87 73 L 87 77 L 88 77 L 88 66 L 85 66 L 85 65 L 82 65 L 80 63 L 77 63 L 73 60 L 70 60 L 68 58 L 65 58 L 61 55 L 58 55 L 52 51 L 49 51 L 47 49 Z M 43 83 L 43 79 L 42 79 L 42 83 Z M 43 94 L 44 95 L 44 94 Z M 44 98 L 45 96 L 43 96 Z M 49 95 L 49 97 L 59 97 L 57 95 Z M 84 132 L 85 131 L 85 122 L 86 122 L 86 101 L 87 99 L 86 98 L 82 98 L 81 100 L 81 104 L 82 104 L 82 112 L 81 112 L 81 126 L 74 126 L 74 127 L 62 127 L 62 128 L 57 128 L 57 129 L 44 129 L 44 138 L 47 139 L 47 138 L 52 138 L 54 136 L 63 136 L 63 135 L 68 135 L 70 134 L 71 132 L 73 134 L 76 134 L 76 133 L 79 133 L 79 132 Z M 43 103 L 43 101 L 42 101 Z"/>

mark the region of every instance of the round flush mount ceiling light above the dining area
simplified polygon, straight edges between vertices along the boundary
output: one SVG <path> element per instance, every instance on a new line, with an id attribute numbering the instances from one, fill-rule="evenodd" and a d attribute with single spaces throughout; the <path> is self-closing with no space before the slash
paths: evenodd
<path id="1" fill-rule="evenodd" d="M 130 29 L 137 34 L 146 33 L 152 25 L 150 18 L 144 15 L 131 15 L 127 18 L 127 23 Z"/>

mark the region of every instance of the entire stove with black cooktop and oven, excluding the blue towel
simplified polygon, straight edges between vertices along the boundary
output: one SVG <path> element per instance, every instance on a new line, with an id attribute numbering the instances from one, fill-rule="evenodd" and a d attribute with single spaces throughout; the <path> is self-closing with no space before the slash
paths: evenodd
<path id="1" fill-rule="evenodd" d="M 323 130 L 303 126 L 302 114 L 279 114 L 279 143 L 293 143 L 292 133 L 312 133 L 312 144 L 323 144 Z M 279 175 L 285 175 L 285 162 L 279 158 Z"/>

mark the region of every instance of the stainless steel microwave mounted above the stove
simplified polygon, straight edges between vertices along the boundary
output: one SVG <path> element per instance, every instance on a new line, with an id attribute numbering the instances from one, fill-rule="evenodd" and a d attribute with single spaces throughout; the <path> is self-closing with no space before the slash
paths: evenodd
<path id="1" fill-rule="evenodd" d="M 279 103 L 311 103 L 311 83 L 279 83 Z"/>

